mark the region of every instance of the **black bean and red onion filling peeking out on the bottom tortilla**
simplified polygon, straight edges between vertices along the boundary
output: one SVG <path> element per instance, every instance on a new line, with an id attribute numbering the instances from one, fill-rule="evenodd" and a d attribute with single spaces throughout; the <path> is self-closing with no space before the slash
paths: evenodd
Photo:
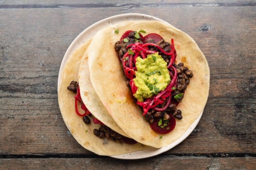
<path id="1" fill-rule="evenodd" d="M 94 124 L 100 124 L 101 126 L 99 127 L 99 129 L 94 129 L 93 130 L 93 134 L 99 138 L 104 138 L 107 137 L 110 140 L 113 141 L 118 141 L 120 143 L 124 142 L 126 144 L 136 144 L 137 142 L 133 139 L 130 139 L 128 137 L 125 137 L 117 132 L 115 132 L 114 130 L 112 130 L 111 128 L 107 127 L 106 125 L 104 125 L 104 123 L 102 123 L 100 120 L 96 119 L 95 116 L 93 116 L 89 110 L 86 108 L 85 104 L 83 103 L 82 99 L 81 99 L 81 95 L 80 95 L 80 88 L 79 88 L 79 84 L 76 81 L 72 81 L 69 86 L 67 87 L 67 89 L 69 91 L 72 91 L 73 93 L 76 93 L 76 95 L 74 96 L 75 98 L 75 109 L 76 109 L 76 114 L 78 116 L 83 117 L 83 122 L 85 124 L 90 124 L 90 118 L 92 119 L 92 122 Z M 84 114 L 79 113 L 78 111 L 78 102 L 81 104 L 81 109 L 83 109 L 85 111 Z"/>

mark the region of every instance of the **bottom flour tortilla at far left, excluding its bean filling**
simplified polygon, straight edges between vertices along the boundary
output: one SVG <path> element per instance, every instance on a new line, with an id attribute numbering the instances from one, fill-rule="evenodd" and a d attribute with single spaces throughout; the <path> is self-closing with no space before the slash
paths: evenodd
<path id="1" fill-rule="evenodd" d="M 76 49 L 76 51 L 74 51 L 74 53 L 69 57 L 62 72 L 62 79 L 59 84 L 58 100 L 59 108 L 66 126 L 79 144 L 81 144 L 85 149 L 88 149 L 98 155 L 113 156 L 147 148 L 147 146 L 140 143 L 130 145 L 125 143 L 120 144 L 119 142 L 108 140 L 107 138 L 100 139 L 93 134 L 93 129 L 98 129 L 100 125 L 92 123 L 92 119 L 91 123 L 87 125 L 83 122 L 82 117 L 76 114 L 74 99 L 75 93 L 68 91 L 67 86 L 69 86 L 72 80 L 78 80 L 80 61 L 89 44 L 90 40 L 83 43 L 78 47 L 78 49 Z M 79 110 L 81 113 L 84 112 L 80 108 Z"/>

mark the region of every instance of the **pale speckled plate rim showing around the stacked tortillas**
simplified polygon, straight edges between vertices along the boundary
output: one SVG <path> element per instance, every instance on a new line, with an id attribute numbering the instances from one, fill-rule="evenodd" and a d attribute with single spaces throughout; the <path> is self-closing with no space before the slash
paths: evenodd
<path id="1" fill-rule="evenodd" d="M 128 13 L 128 14 L 119 14 L 119 15 L 114 15 L 114 16 L 110 16 L 108 18 L 102 19 L 100 21 L 97 21 L 96 23 L 93 23 L 92 25 L 90 25 L 88 28 L 86 28 L 85 30 L 83 30 L 74 40 L 73 42 L 71 42 L 71 44 L 69 45 L 68 49 L 66 50 L 64 57 L 62 58 L 62 63 L 60 65 L 59 68 L 59 74 L 58 74 L 58 84 L 57 84 L 57 92 L 59 94 L 59 84 L 61 83 L 61 77 L 62 77 L 62 72 L 63 72 L 63 68 L 64 65 L 66 64 L 66 61 L 68 60 L 68 58 L 71 56 L 71 54 L 73 53 L 73 51 L 76 50 L 77 47 L 79 47 L 79 40 L 81 39 L 81 37 L 83 37 L 83 35 L 85 33 L 87 33 L 88 31 L 90 31 L 90 29 L 93 29 L 95 26 L 100 25 L 102 23 L 105 23 L 106 26 L 111 25 L 110 21 L 114 20 L 114 19 L 118 19 L 119 17 L 141 17 L 140 19 L 146 19 L 146 20 L 155 20 L 155 21 L 162 21 L 167 23 L 166 21 L 159 19 L 157 17 L 154 16 L 150 16 L 147 14 L 139 14 L 139 13 Z M 128 18 L 127 18 L 128 19 Z M 122 21 L 126 21 L 126 20 L 122 20 Z M 121 22 L 121 20 L 119 21 Z M 103 24 L 103 25 L 105 25 Z M 113 23 L 114 24 L 114 23 Z M 168 23 L 169 24 L 169 23 Z M 97 31 L 97 30 L 96 30 Z M 91 36 L 91 35 L 90 35 Z M 90 38 L 92 37 L 88 37 L 85 40 L 90 40 Z M 82 40 L 82 39 L 81 39 Z M 78 44 L 77 44 L 78 43 Z M 76 48 L 75 48 L 76 47 Z M 199 114 L 199 116 L 197 117 L 197 119 L 194 120 L 194 122 L 191 124 L 191 126 L 185 131 L 185 133 L 183 133 L 183 135 L 181 135 L 177 140 L 175 140 L 174 142 L 172 142 L 171 144 L 168 144 L 165 147 L 161 147 L 161 148 L 154 148 L 154 147 L 149 147 L 147 149 L 143 149 L 140 151 L 134 151 L 134 152 L 130 152 L 127 154 L 121 154 L 121 155 L 117 155 L 117 156 L 110 156 L 112 158 L 118 158 L 118 159 L 142 159 L 142 158 L 149 158 L 152 156 L 156 156 L 159 154 L 162 154 L 163 152 L 166 152 L 170 149 L 172 149 L 173 147 L 177 146 L 178 144 L 180 144 L 181 142 L 183 142 L 183 140 L 185 140 L 191 133 L 192 131 L 196 128 L 197 124 L 199 123 L 201 116 L 204 112 L 204 108 L 201 112 L 201 114 Z M 151 154 L 150 154 L 151 153 Z"/>

